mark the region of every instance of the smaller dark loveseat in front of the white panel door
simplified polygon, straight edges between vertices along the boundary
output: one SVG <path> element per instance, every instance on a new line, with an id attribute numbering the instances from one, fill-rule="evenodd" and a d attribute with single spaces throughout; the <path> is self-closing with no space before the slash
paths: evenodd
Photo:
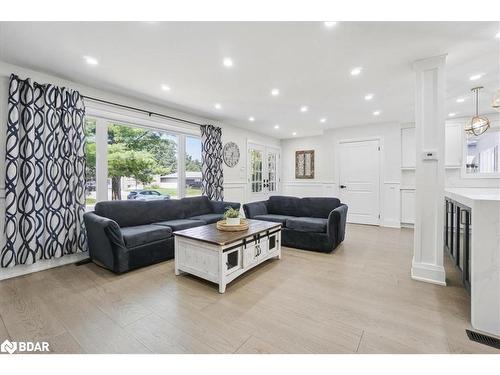
<path id="1" fill-rule="evenodd" d="M 331 252 L 345 237 L 347 206 L 337 198 L 273 196 L 243 209 L 249 219 L 281 223 L 283 246 Z"/>

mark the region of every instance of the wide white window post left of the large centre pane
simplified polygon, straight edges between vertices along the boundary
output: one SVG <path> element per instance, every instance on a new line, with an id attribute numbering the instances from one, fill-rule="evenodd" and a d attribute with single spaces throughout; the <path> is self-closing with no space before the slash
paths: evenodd
<path id="1" fill-rule="evenodd" d="M 96 198 L 97 202 L 108 198 L 108 121 L 96 118 Z"/>

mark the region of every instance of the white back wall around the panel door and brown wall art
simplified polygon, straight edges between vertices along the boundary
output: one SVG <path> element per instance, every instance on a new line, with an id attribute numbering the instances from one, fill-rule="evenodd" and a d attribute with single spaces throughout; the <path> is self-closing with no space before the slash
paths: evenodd
<path id="1" fill-rule="evenodd" d="M 336 153 L 341 140 L 378 137 L 381 140 L 381 224 L 399 226 L 401 182 L 401 126 L 367 124 L 325 131 L 321 136 L 283 140 L 283 193 L 295 196 L 338 196 Z M 295 179 L 295 151 L 315 151 L 315 178 Z"/>

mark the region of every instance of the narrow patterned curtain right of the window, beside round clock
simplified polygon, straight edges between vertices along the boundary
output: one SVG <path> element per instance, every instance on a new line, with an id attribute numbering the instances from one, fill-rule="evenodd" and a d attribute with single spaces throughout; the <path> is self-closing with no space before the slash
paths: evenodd
<path id="1" fill-rule="evenodd" d="M 224 200 L 222 173 L 222 130 L 213 125 L 201 126 L 201 192 L 209 199 Z"/>

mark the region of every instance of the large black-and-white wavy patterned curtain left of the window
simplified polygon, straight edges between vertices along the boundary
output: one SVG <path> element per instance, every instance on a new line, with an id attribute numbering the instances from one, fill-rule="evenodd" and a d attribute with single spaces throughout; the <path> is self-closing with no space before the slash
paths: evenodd
<path id="1" fill-rule="evenodd" d="M 82 97 L 12 75 L 7 110 L 0 266 L 86 251 Z"/>

